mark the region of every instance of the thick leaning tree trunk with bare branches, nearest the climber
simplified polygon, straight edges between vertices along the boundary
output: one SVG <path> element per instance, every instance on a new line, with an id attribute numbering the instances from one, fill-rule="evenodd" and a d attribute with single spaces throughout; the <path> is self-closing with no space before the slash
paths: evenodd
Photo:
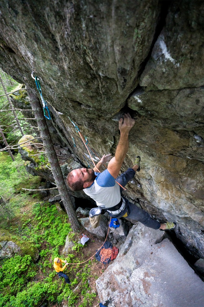
<path id="1" fill-rule="evenodd" d="M 70 197 L 66 188 L 66 184 L 62 175 L 62 170 L 59 166 L 58 158 L 55 153 L 55 149 L 52 143 L 52 139 L 50 136 L 49 129 L 47 127 L 46 119 L 43 114 L 43 110 L 40 104 L 40 100 L 37 98 L 35 94 L 32 93 L 30 89 L 27 89 L 28 97 L 32 106 L 32 110 L 35 114 L 35 119 L 38 124 L 38 128 L 40 130 L 40 135 L 43 140 L 43 144 L 45 146 L 45 150 L 47 153 L 48 160 L 51 165 L 52 173 L 55 178 L 55 183 L 61 195 L 65 210 L 69 216 L 69 220 L 71 223 L 71 227 L 74 232 L 79 230 L 80 224 L 76 216 L 76 212 L 71 204 Z"/>

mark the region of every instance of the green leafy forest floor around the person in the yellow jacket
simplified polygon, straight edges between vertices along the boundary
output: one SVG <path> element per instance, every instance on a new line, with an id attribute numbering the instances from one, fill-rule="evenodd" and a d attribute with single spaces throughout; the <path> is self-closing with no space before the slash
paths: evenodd
<path id="1" fill-rule="evenodd" d="M 27 246 L 24 252 L 0 260 L 0 307 L 37 307 L 45 303 L 47 307 L 97 307 L 100 299 L 96 280 L 108 266 L 103 267 L 95 253 L 104 242 L 84 228 L 73 233 L 66 212 L 58 212 L 55 204 L 38 192 L 23 192 L 22 187 L 36 189 L 42 183 L 40 177 L 26 175 L 22 160 L 16 158 L 12 162 L 7 154 L 2 154 L 0 171 L 5 201 L 4 216 L 0 216 L 0 242 L 6 233 L 9 240 L 23 248 Z M 89 237 L 84 246 L 80 244 L 82 233 Z M 74 247 L 62 255 L 67 235 Z M 33 261 L 30 255 L 36 248 L 39 257 Z M 53 268 L 55 257 L 74 263 L 64 271 L 70 285 L 58 278 Z M 77 265 L 79 262 L 84 263 Z"/>

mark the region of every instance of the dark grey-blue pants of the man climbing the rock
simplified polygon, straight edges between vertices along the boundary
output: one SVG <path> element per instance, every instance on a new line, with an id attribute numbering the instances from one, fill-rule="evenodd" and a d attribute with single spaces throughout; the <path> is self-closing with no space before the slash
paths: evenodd
<path id="1" fill-rule="evenodd" d="M 128 181 L 132 180 L 134 178 L 135 171 L 134 169 L 127 169 L 126 172 L 122 173 L 118 178 L 116 178 L 115 181 L 119 182 L 123 187 L 127 185 Z M 123 188 L 120 187 L 120 194 L 122 194 Z M 126 207 L 125 209 L 118 215 L 114 216 L 117 218 L 122 217 L 127 213 L 127 218 L 132 219 L 135 221 L 138 221 L 142 224 L 144 224 L 146 227 L 153 228 L 153 229 L 159 229 L 160 228 L 160 223 L 157 220 L 154 220 L 149 213 L 147 213 L 145 210 L 142 210 L 141 208 L 138 208 L 136 205 L 130 203 L 129 200 L 127 200 L 123 196 Z"/>

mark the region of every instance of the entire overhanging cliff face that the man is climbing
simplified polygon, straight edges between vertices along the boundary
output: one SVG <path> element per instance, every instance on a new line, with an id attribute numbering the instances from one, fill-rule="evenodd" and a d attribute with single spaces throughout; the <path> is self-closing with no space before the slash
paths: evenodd
<path id="1" fill-rule="evenodd" d="M 117 121 L 129 111 L 136 123 L 122 170 L 140 155 L 141 171 L 128 196 L 159 221 L 176 221 L 177 237 L 203 258 L 203 2 L 0 6 L 0 66 L 33 91 L 31 72 L 39 76 L 55 144 L 93 167 L 68 116 L 97 161 L 115 153 Z"/>

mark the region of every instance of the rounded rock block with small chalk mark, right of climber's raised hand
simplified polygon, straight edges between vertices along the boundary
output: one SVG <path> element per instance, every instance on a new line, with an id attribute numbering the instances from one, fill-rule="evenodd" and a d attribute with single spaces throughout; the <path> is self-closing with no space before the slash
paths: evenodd
<path id="1" fill-rule="evenodd" d="M 165 127 L 165 129 L 197 130 L 198 134 L 201 133 L 201 136 L 204 137 L 201 129 L 203 94 L 204 87 L 160 91 L 137 90 L 128 98 L 128 106 L 141 115 L 150 117 L 155 126 L 160 125 L 163 129 Z M 194 140 L 194 135 L 186 133 L 184 137 L 183 133 L 182 137 L 182 131 L 180 131 L 180 135 L 180 146 L 182 142 L 186 142 L 186 147 L 193 145 L 197 148 L 198 154 L 195 156 L 195 150 L 191 150 L 191 147 L 189 148 L 191 152 L 189 151 L 187 154 L 192 158 L 199 157 L 203 150 L 201 136 Z M 190 139 L 191 142 L 189 142 Z M 196 144 L 196 142 L 199 144 Z"/>

